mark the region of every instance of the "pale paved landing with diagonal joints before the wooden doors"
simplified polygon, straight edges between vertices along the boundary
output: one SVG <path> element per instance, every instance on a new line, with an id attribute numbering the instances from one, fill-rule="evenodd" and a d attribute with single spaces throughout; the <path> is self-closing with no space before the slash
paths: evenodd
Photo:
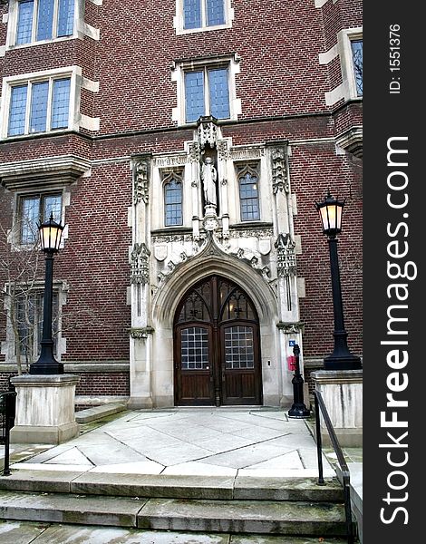
<path id="1" fill-rule="evenodd" d="M 24 461 L 16 462 L 19 456 Z M 323 462 L 324 476 L 334 476 L 325 456 Z M 82 427 L 80 436 L 57 446 L 12 444 L 10 467 L 170 476 L 318 473 L 316 444 L 305 420 L 272 408 L 123 412 L 87 432 Z"/>

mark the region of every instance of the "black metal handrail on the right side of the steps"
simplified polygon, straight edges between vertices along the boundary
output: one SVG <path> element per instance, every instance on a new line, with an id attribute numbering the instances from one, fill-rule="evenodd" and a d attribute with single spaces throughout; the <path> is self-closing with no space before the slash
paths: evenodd
<path id="1" fill-rule="evenodd" d="M 344 460 L 344 453 L 340 446 L 337 436 L 334 432 L 333 423 L 330 420 L 328 415 L 327 408 L 325 407 L 323 395 L 314 390 L 314 400 L 315 400 L 315 429 L 316 429 L 316 453 L 318 455 L 318 484 L 324 485 L 324 475 L 323 475 L 323 444 L 321 440 L 321 427 L 320 427 L 320 413 L 318 407 L 321 409 L 321 413 L 324 417 L 324 423 L 327 427 L 330 440 L 332 442 L 334 452 L 337 456 L 337 461 L 340 465 L 340 470 L 342 471 L 343 485 L 344 485 L 344 513 L 346 516 L 346 533 L 348 544 L 353 544 L 353 521 L 352 521 L 352 510 L 351 510 L 351 489 L 350 489 L 350 476 L 349 469 Z"/>

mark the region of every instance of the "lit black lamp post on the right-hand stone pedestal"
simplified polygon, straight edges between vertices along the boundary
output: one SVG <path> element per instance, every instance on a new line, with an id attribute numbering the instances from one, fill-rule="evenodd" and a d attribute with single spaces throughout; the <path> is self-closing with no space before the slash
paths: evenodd
<path id="1" fill-rule="evenodd" d="M 323 231 L 328 238 L 330 248 L 334 306 L 334 351 L 332 355 L 324 358 L 324 370 L 359 370 L 362 367 L 361 359 L 349 351 L 347 333 L 344 330 L 344 306 L 337 257 L 336 235 L 342 230 L 344 200 L 334 199 L 328 191 L 323 202 L 315 202 L 315 208 L 319 211 Z"/>

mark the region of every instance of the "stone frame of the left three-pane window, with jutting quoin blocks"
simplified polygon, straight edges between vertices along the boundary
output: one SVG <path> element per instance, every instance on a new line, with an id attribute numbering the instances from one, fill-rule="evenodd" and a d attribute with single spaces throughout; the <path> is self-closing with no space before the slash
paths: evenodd
<path id="1" fill-rule="evenodd" d="M 7 135 L 9 124 L 9 111 L 12 87 L 23 85 L 25 83 L 37 83 L 49 79 L 70 78 L 70 103 L 68 113 L 68 127 L 62 129 L 53 129 L 50 131 L 25 133 L 19 135 Z M 82 77 L 82 68 L 77 65 L 64 66 L 62 68 L 53 68 L 51 70 L 42 70 L 40 72 L 21 73 L 3 78 L 2 97 L 0 102 L 0 141 L 8 139 L 27 139 L 34 138 L 39 134 L 63 134 L 69 131 L 79 131 L 85 128 L 89 131 L 99 131 L 100 119 L 92 118 L 80 113 L 81 90 L 86 89 L 91 92 L 99 91 L 99 83 L 92 82 Z M 27 108 L 28 110 L 28 108 Z"/>

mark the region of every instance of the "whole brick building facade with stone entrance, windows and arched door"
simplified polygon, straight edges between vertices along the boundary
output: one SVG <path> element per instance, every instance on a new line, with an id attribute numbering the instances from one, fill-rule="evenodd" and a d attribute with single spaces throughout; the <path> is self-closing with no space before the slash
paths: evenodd
<path id="1" fill-rule="evenodd" d="M 1 250 L 30 262 L 36 221 L 66 223 L 55 346 L 81 376 L 78 403 L 290 402 L 292 343 L 305 379 L 333 349 L 314 206 L 328 189 L 345 199 L 344 317 L 362 355 L 360 1 L 2 0 L 0 13 Z M 31 272 L 28 311 L 0 268 L 4 379 L 17 350 L 36 356 L 43 262 Z"/>

